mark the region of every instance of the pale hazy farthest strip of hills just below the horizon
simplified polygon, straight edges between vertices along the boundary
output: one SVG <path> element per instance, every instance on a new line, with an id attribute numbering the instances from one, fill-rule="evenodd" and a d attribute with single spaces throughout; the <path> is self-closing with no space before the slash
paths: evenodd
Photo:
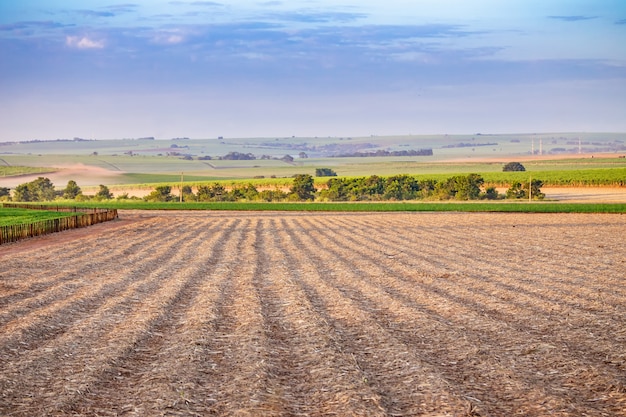
<path id="1" fill-rule="evenodd" d="M 433 149 L 433 159 L 500 157 L 503 155 L 588 154 L 624 151 L 626 133 L 521 133 L 470 135 L 396 135 L 367 137 L 212 138 L 187 140 L 45 141 L 0 144 L 0 155 L 167 156 L 174 153 L 222 156 L 229 152 L 281 157 L 327 157 L 355 151 Z"/>

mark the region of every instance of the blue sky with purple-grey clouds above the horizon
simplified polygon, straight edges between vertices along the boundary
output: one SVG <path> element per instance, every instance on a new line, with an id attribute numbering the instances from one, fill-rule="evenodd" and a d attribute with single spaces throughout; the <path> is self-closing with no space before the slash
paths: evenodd
<path id="1" fill-rule="evenodd" d="M 626 132 L 624 0 L 0 0 L 0 141 Z"/>

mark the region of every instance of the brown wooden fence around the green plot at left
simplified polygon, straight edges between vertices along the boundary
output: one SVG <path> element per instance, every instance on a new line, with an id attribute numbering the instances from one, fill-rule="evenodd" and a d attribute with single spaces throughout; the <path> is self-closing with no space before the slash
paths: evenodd
<path id="1" fill-rule="evenodd" d="M 23 208 L 31 210 L 48 210 L 77 213 L 75 216 L 59 219 L 41 220 L 34 223 L 0 226 L 0 245 L 16 242 L 20 239 L 62 232 L 63 230 L 87 227 L 97 223 L 104 223 L 117 219 L 117 209 L 88 209 L 76 207 L 43 206 L 35 204 L 4 203 L 3 207 Z"/>

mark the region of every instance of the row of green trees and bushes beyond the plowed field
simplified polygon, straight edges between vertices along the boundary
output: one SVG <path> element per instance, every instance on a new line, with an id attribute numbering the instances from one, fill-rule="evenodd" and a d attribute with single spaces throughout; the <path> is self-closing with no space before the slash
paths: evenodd
<path id="1" fill-rule="evenodd" d="M 259 191 L 254 185 L 246 184 L 227 189 L 220 183 L 200 185 L 196 192 L 189 185 L 183 186 L 176 195 L 172 194 L 169 185 L 158 186 L 145 201 L 403 201 L 403 200 L 495 200 L 500 198 L 543 199 L 540 180 L 529 183 L 515 183 L 501 195 L 494 187 L 483 189 L 484 180 L 478 174 L 457 175 L 443 181 L 418 180 L 410 175 L 394 175 L 379 177 L 372 175 L 361 178 L 332 177 L 320 190 L 315 188 L 313 177 L 308 174 L 296 175 L 288 191 L 270 189 Z M 0 189 L 0 197 L 3 190 Z M 530 193 L 530 194 L 529 194 Z M 9 198 L 8 189 L 2 198 Z M 100 185 L 95 196 L 85 196 L 75 181 L 69 181 L 63 190 L 55 190 L 48 178 L 39 177 L 29 183 L 16 187 L 14 201 L 52 201 L 57 198 L 85 201 L 109 200 L 113 194 Z M 127 195 L 118 199 L 128 198 Z"/>

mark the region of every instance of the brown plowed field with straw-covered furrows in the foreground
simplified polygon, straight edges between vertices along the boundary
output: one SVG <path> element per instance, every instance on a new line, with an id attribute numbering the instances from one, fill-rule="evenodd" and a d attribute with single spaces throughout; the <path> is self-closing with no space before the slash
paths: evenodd
<path id="1" fill-rule="evenodd" d="M 0 415 L 626 415 L 626 216 L 120 212 L 6 245 Z"/>

